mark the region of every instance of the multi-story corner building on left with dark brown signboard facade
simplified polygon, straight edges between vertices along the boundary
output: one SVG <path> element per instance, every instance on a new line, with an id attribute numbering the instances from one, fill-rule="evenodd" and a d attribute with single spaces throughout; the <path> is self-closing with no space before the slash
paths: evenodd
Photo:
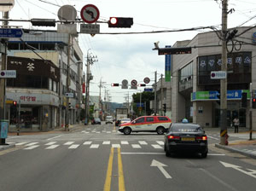
<path id="1" fill-rule="evenodd" d="M 21 130 L 49 130 L 79 123 L 83 84 L 83 52 L 67 33 L 26 31 L 10 40 L 6 96 L 20 104 Z M 67 78 L 68 77 L 68 78 Z M 67 98 L 67 93 L 69 96 Z M 68 107 L 68 110 L 66 110 Z M 18 112 L 8 105 L 9 130 L 16 130 Z M 66 119 L 67 120 L 67 119 Z"/>

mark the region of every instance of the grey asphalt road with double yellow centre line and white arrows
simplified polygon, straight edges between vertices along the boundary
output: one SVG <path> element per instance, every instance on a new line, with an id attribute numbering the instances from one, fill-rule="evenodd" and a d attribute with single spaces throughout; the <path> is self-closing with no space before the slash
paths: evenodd
<path id="1" fill-rule="evenodd" d="M 0 152 L 0 190 L 255 190 L 256 160 L 215 148 L 218 131 L 207 135 L 207 159 L 166 158 L 163 136 L 124 136 L 113 124 L 9 136 L 16 148 Z"/>

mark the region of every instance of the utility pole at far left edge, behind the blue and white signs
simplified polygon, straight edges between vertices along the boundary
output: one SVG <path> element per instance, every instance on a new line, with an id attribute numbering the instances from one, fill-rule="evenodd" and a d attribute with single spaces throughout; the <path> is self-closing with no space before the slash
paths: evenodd
<path id="1" fill-rule="evenodd" d="M 9 11 L 3 12 L 3 19 L 9 19 Z M 8 21 L 3 21 L 3 26 L 8 26 Z M 2 53 L 2 67 L 1 70 L 7 70 L 7 43 L 8 39 L 2 38 L 1 43 L 4 44 L 4 53 Z M 5 90 L 6 79 L 0 78 L 0 121 L 5 119 Z M 5 145 L 5 138 L 0 139 L 0 145 Z"/>

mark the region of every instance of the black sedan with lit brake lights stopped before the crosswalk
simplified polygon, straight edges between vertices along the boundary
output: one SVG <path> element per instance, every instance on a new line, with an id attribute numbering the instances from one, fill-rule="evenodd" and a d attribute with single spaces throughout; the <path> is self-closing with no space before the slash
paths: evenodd
<path id="1" fill-rule="evenodd" d="M 172 123 L 165 135 L 166 156 L 172 153 L 201 153 L 207 158 L 208 142 L 199 124 Z"/>

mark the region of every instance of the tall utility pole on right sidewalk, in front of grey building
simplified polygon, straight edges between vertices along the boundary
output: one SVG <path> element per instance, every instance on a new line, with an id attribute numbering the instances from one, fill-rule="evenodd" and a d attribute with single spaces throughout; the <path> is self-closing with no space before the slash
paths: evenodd
<path id="1" fill-rule="evenodd" d="M 222 1 L 222 65 L 221 70 L 227 72 L 227 20 L 228 0 Z M 227 136 L 227 78 L 220 79 L 220 144 L 226 145 Z"/>

